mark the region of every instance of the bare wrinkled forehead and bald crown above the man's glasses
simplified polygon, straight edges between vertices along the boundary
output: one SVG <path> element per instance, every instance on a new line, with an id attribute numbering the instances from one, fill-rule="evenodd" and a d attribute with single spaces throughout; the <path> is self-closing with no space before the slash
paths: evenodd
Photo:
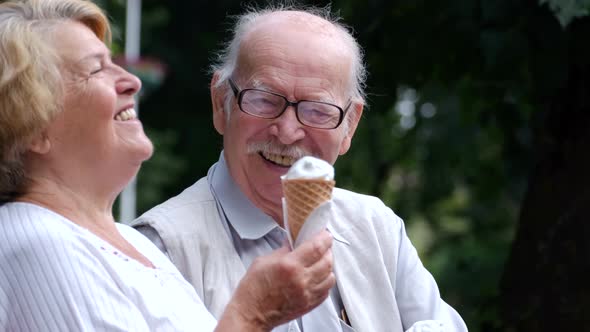
<path id="1" fill-rule="evenodd" d="M 328 37 L 337 32 L 331 22 L 304 12 L 259 18 L 238 51 L 234 75 L 240 88 L 262 88 L 293 100 L 336 102 L 346 94 L 341 91 L 350 80 L 351 60 L 344 38 Z"/>

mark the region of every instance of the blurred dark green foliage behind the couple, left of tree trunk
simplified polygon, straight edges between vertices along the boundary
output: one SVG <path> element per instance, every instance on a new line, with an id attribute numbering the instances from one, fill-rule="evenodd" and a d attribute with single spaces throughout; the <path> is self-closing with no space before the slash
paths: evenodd
<path id="1" fill-rule="evenodd" d="M 123 2 L 103 2 L 124 22 Z M 354 28 L 370 72 L 368 106 L 351 151 L 336 165 L 338 185 L 379 196 L 404 218 L 443 298 L 471 331 L 512 326 L 500 312 L 511 303 L 500 301 L 509 297 L 499 283 L 504 274 L 510 292 L 513 266 L 504 267 L 521 202 L 532 192 L 527 180 L 537 179 L 529 175 L 543 155 L 536 147 L 547 105 L 567 96 L 557 92 L 568 86 L 572 63 L 588 68 L 588 18 L 567 3 L 332 3 Z M 217 159 L 208 66 L 228 38 L 228 16 L 243 8 L 230 0 L 143 5 L 142 53 L 165 63 L 167 74 L 141 104 L 157 147 L 140 173 L 141 211 L 204 176 Z M 523 241 L 517 247 L 535 245 Z M 531 307 L 518 312 L 532 312 L 522 303 Z"/>

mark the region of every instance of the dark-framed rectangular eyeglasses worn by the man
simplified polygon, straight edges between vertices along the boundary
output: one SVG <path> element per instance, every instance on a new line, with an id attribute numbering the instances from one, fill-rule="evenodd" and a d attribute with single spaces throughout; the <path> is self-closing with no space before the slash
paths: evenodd
<path id="1" fill-rule="evenodd" d="M 344 109 L 321 101 L 289 101 L 287 97 L 260 89 L 240 89 L 232 79 L 229 85 L 238 100 L 242 112 L 264 119 L 276 119 L 293 106 L 297 120 L 306 126 L 320 129 L 334 129 L 342 123 L 344 114 L 352 105 L 352 100 Z"/>

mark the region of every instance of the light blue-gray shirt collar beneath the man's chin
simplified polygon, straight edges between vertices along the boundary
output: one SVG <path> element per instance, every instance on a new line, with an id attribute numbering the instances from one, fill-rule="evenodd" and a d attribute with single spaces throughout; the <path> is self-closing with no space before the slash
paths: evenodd
<path id="1" fill-rule="evenodd" d="M 229 173 L 223 151 L 211 167 L 207 180 L 213 196 L 221 206 L 225 219 L 242 239 L 256 240 L 279 227 L 267 214 L 257 208 L 240 190 Z"/>

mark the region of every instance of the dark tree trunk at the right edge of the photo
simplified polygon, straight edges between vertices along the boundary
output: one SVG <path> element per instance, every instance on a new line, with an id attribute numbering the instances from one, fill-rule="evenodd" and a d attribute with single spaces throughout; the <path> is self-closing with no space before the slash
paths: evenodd
<path id="1" fill-rule="evenodd" d="M 509 331 L 590 331 L 588 33 L 588 17 L 568 28 L 566 79 L 539 99 L 536 162 L 500 289 Z"/>

